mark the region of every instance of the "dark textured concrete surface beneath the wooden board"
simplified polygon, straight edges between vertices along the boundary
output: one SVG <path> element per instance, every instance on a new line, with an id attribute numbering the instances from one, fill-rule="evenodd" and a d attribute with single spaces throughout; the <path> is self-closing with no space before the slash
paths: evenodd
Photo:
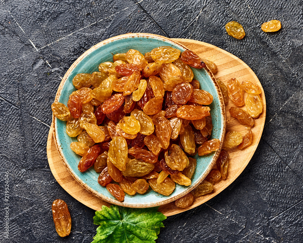
<path id="1" fill-rule="evenodd" d="M 0 232 L 9 203 L 9 239 L 91 242 L 95 211 L 72 198 L 48 166 L 51 104 L 68 67 L 85 50 L 128 32 L 189 38 L 238 56 L 258 76 L 267 101 L 260 144 L 243 173 L 218 196 L 168 217 L 157 242 L 303 241 L 302 0 L 0 0 Z M 264 33 L 263 22 L 282 29 Z M 246 36 L 225 31 L 231 20 Z M 5 202 L 5 171 L 9 200 Z M 60 238 L 52 201 L 69 205 L 72 232 Z"/>

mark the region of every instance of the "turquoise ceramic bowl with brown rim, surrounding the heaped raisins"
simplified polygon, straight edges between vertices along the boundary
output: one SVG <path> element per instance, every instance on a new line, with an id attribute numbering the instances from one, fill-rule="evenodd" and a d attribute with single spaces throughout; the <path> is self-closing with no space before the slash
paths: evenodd
<path id="1" fill-rule="evenodd" d="M 55 101 L 67 105 L 69 95 L 76 90 L 72 84 L 72 79 L 76 74 L 98 71 L 99 64 L 106 61 L 112 61 L 112 56 L 116 53 L 126 53 L 129 49 L 135 49 L 144 54 L 159 46 L 172 46 L 173 48 L 181 50 L 181 52 L 188 50 L 187 47 L 164 36 L 145 33 L 130 33 L 115 36 L 98 43 L 83 53 L 82 56 L 80 56 L 68 69 L 58 88 Z M 221 145 L 220 149 L 216 152 L 212 152 L 206 156 L 198 156 L 198 154 L 195 156 L 195 159 L 197 159 L 197 166 L 195 173 L 191 178 L 190 186 L 186 187 L 176 184 L 174 192 L 169 196 L 164 196 L 154 192 L 149 187 L 148 191 L 144 194 L 136 193 L 133 196 L 125 194 L 125 200 L 123 202 L 118 201 L 108 192 L 106 187 L 102 187 L 98 184 L 97 180 L 99 173 L 95 172 L 93 168 L 94 166 L 84 173 L 78 170 L 78 163 L 81 156 L 78 156 L 70 149 L 70 143 L 77 142 L 77 138 L 69 137 L 66 133 L 66 122 L 55 118 L 53 115 L 55 144 L 63 163 L 75 180 L 86 190 L 102 200 L 112 204 L 134 208 L 155 207 L 167 204 L 184 196 L 186 193 L 194 189 L 205 178 L 218 158 L 225 135 L 226 115 L 223 96 L 214 75 L 208 68 L 192 68 L 192 70 L 195 75 L 194 79 L 199 80 L 200 82 L 200 89 L 208 91 L 214 97 L 213 102 L 209 105 L 211 108 L 213 123 L 213 130 L 210 139 L 220 139 Z"/>

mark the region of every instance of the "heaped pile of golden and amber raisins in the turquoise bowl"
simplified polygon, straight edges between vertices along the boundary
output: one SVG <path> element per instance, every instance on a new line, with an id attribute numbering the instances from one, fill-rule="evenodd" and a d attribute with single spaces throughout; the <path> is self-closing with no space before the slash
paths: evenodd
<path id="1" fill-rule="evenodd" d="M 190 50 L 165 46 L 145 55 L 133 49 L 118 53 L 113 62 L 101 63 L 98 72 L 77 74 L 72 81 L 77 90 L 67 107 L 55 102 L 52 111 L 67 121 L 67 134 L 78 138 L 70 147 L 82 156 L 79 171 L 94 166 L 98 183 L 119 201 L 125 193 L 143 194 L 149 186 L 168 196 L 175 183 L 191 185 L 197 163 L 191 156 L 220 147 L 219 139 L 209 140 L 207 105 L 213 97 L 200 89 L 190 68 L 205 63 L 217 71 L 213 62 Z M 218 166 L 222 178 L 228 165 L 224 158 Z M 178 207 L 192 203 L 193 197 L 185 197 L 176 202 Z"/>

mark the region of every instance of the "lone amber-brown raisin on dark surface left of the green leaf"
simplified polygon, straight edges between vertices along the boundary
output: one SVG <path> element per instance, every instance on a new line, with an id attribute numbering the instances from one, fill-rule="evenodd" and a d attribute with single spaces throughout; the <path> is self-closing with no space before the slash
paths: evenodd
<path id="1" fill-rule="evenodd" d="M 61 199 L 56 199 L 52 204 L 53 220 L 55 228 L 61 237 L 71 233 L 72 219 L 67 204 Z"/>

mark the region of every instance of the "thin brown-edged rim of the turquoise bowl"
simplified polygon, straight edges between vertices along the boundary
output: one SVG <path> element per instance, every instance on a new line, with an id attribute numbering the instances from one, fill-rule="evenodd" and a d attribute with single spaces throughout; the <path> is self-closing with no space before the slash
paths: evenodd
<path id="1" fill-rule="evenodd" d="M 58 87 L 58 91 L 55 97 L 55 102 L 59 102 L 60 100 L 60 95 L 62 94 L 62 90 L 64 88 L 64 84 L 65 82 L 68 82 L 68 80 L 71 79 L 70 75 L 72 73 L 72 71 L 78 67 L 78 65 L 81 65 L 81 62 L 90 54 L 96 52 L 98 49 L 104 47 L 105 45 L 110 45 L 110 43 L 115 42 L 115 41 L 124 41 L 129 38 L 143 38 L 143 39 L 148 39 L 149 41 L 155 39 L 157 41 L 163 41 L 165 42 L 165 44 L 168 46 L 175 46 L 178 49 L 182 50 L 190 50 L 188 49 L 186 46 L 176 42 L 175 40 L 172 39 L 168 39 L 165 36 L 159 36 L 159 35 L 155 35 L 155 34 L 149 34 L 149 33 L 128 33 L 128 34 L 124 34 L 124 35 L 119 35 L 119 36 L 114 36 L 112 38 L 106 39 L 98 44 L 96 44 L 95 46 L 92 46 L 90 49 L 88 49 L 87 51 L 85 51 L 85 53 L 83 53 L 73 64 L 72 66 L 68 69 L 68 71 L 66 72 L 66 74 L 64 75 L 59 87 Z M 134 47 L 133 47 L 134 48 Z M 204 172 L 201 173 L 200 176 L 198 176 L 198 179 L 195 180 L 195 183 L 191 184 L 188 187 L 185 186 L 180 186 L 178 184 L 176 184 L 176 188 L 178 188 L 178 193 L 174 194 L 174 192 L 169 195 L 169 196 L 164 196 L 161 194 L 157 193 L 157 198 L 158 200 L 154 200 L 153 202 L 150 201 L 145 201 L 147 199 L 147 197 L 143 197 L 142 201 L 138 202 L 138 200 L 135 200 L 134 203 L 126 203 L 126 202 L 120 202 L 118 200 L 116 200 L 111 194 L 109 194 L 106 190 L 105 187 L 103 187 L 102 189 L 105 189 L 105 193 L 107 192 L 108 195 L 104 195 L 103 193 L 100 193 L 100 191 L 98 190 L 94 190 L 92 187 L 90 187 L 87 183 L 85 183 L 85 181 L 83 179 L 81 179 L 78 175 L 77 175 L 77 171 L 75 172 L 72 167 L 70 166 L 70 164 L 68 163 L 68 160 L 65 158 L 65 153 L 62 151 L 61 148 L 61 143 L 60 143 L 60 139 L 58 136 L 58 126 L 60 126 L 61 122 L 60 120 L 58 120 L 58 118 L 55 118 L 55 116 L 53 115 L 52 117 L 52 127 L 53 127 L 53 135 L 54 135 L 54 140 L 55 140 L 55 145 L 57 147 L 58 153 L 62 159 L 62 162 L 64 163 L 65 167 L 67 168 L 67 170 L 69 171 L 69 173 L 72 175 L 72 177 L 82 186 L 84 187 L 86 190 L 88 190 L 90 193 L 92 193 L 93 195 L 95 195 L 96 197 L 99 197 L 100 199 L 107 201 L 109 203 L 112 204 L 116 204 L 119 206 L 123 206 L 123 207 L 133 207 L 133 208 L 144 208 L 144 207 L 155 207 L 155 206 L 160 206 L 163 204 L 167 204 L 169 202 L 172 202 L 182 196 L 184 196 L 185 194 L 187 194 L 188 192 L 190 192 L 191 190 L 193 190 L 199 183 L 201 183 L 201 181 L 207 176 L 207 174 L 210 172 L 211 168 L 214 166 L 220 151 L 222 149 L 223 146 L 223 138 L 225 136 L 225 130 L 226 130 L 226 111 L 225 111 L 225 104 L 224 104 L 224 100 L 223 100 L 223 95 L 221 93 L 221 89 L 215 79 L 215 76 L 211 73 L 211 71 L 208 69 L 208 67 L 201 69 L 201 70 L 205 70 L 206 72 L 204 73 L 204 75 L 208 76 L 208 78 L 210 78 L 213 82 L 214 88 L 217 91 L 217 94 L 213 94 L 213 96 L 217 96 L 218 100 L 218 107 L 216 107 L 216 109 L 219 109 L 219 113 L 220 113 L 220 117 L 216 118 L 218 119 L 218 123 L 219 125 L 221 125 L 220 127 L 216 128 L 219 131 L 219 137 L 218 138 L 221 143 L 220 143 L 220 148 L 216 151 L 216 152 L 212 152 L 211 154 L 207 155 L 207 157 L 209 158 L 209 163 L 208 166 L 206 166 L 206 169 L 204 169 Z M 198 69 L 193 69 L 194 74 L 195 72 L 200 72 L 201 70 Z M 214 98 L 215 100 L 215 98 Z M 214 103 L 214 102 L 213 102 Z M 62 124 L 61 124 L 62 125 Z M 215 127 L 214 127 L 215 128 Z M 76 141 L 76 140 L 75 140 Z M 70 151 L 72 152 L 72 151 Z M 196 156 L 197 158 L 200 158 L 202 156 Z M 203 156 L 204 157 L 204 156 Z M 197 160 L 198 163 L 198 160 Z M 84 174 L 84 173 L 83 173 Z M 83 175 L 81 174 L 81 175 Z M 98 182 L 96 181 L 96 184 L 98 184 Z M 100 186 L 101 187 L 101 186 Z M 181 188 L 181 189 L 180 189 Z M 151 191 L 151 189 L 149 189 Z M 152 191 L 153 192 L 153 191 Z M 155 192 L 154 192 L 155 193 Z M 146 194 L 146 193 L 145 193 Z M 141 198 L 142 196 L 144 196 L 145 194 L 138 194 L 136 193 L 135 196 L 130 196 L 132 199 L 134 197 L 138 197 Z M 153 195 L 153 194 L 151 194 Z M 125 194 L 125 198 L 128 197 L 128 194 Z"/>

